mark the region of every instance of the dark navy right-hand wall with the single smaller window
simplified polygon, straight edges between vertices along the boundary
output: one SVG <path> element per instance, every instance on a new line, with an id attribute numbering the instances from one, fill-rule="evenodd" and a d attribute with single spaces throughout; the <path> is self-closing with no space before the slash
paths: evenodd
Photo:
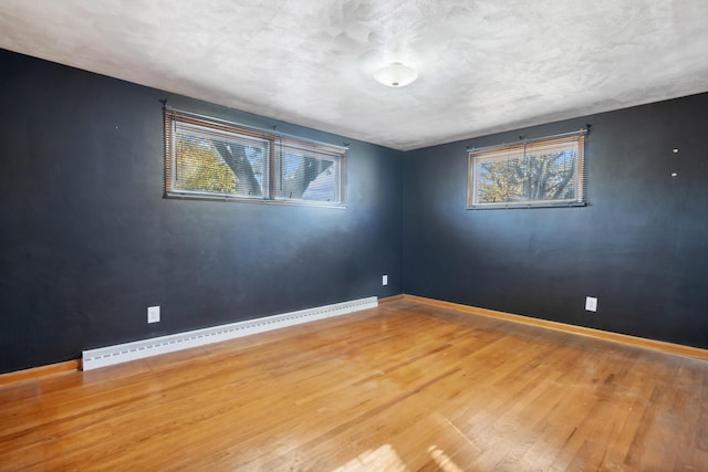
<path id="1" fill-rule="evenodd" d="M 587 207 L 465 209 L 467 145 L 585 124 Z M 404 292 L 707 348 L 707 129 L 701 94 L 407 153 Z"/>

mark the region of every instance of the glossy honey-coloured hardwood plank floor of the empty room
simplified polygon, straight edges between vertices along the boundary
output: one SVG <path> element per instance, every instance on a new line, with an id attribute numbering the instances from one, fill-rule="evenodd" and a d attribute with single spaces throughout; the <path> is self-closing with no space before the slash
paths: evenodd
<path id="1" fill-rule="evenodd" d="M 407 300 L 0 387 L 0 470 L 708 470 L 708 363 Z"/>

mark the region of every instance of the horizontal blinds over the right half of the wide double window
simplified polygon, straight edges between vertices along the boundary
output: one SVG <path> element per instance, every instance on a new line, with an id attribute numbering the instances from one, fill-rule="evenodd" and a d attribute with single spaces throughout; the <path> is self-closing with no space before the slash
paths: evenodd
<path id="1" fill-rule="evenodd" d="M 342 202 L 343 148 L 281 139 L 275 149 L 277 199 Z"/>

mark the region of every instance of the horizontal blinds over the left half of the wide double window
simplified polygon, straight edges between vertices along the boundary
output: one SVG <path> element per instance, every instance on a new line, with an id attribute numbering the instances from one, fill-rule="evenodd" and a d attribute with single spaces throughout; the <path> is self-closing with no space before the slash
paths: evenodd
<path id="1" fill-rule="evenodd" d="M 168 191 L 269 197 L 270 141 L 256 133 L 171 115 Z"/>

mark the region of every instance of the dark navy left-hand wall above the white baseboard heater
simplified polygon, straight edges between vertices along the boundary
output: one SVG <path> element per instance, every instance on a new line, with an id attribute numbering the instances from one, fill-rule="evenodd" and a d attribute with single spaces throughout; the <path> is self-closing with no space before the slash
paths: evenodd
<path id="1" fill-rule="evenodd" d="M 0 373 L 402 293 L 402 153 L 8 51 L 0 70 Z M 347 208 L 164 199 L 160 98 L 350 143 Z"/>

